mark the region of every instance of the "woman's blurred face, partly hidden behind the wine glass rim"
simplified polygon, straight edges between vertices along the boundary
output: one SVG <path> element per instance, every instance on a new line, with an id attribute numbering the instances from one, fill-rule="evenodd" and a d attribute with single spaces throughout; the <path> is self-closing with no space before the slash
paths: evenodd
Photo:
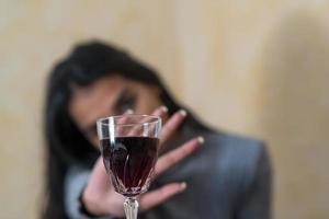
<path id="1" fill-rule="evenodd" d="M 161 104 L 157 87 L 120 76 L 101 78 L 88 87 L 76 88 L 69 103 L 69 114 L 86 138 L 98 147 L 95 120 L 120 115 L 127 110 L 150 114 Z"/>

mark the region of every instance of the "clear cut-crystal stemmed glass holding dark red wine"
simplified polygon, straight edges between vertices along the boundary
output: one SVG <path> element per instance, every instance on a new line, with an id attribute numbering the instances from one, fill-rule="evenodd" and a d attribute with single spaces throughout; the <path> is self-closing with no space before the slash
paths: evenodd
<path id="1" fill-rule="evenodd" d="M 136 219 L 137 196 L 145 193 L 158 159 L 161 118 L 122 115 L 97 122 L 101 153 L 114 189 L 126 197 L 127 219 Z"/>

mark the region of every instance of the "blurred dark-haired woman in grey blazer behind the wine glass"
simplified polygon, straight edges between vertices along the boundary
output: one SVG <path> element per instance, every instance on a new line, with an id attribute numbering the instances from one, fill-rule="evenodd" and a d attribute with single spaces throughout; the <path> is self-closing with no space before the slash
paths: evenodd
<path id="1" fill-rule="evenodd" d="M 101 42 L 75 47 L 48 79 L 43 218 L 124 217 L 95 130 L 98 118 L 124 113 L 164 120 L 139 219 L 270 218 L 271 166 L 263 143 L 205 126 L 175 102 L 154 69 Z"/>

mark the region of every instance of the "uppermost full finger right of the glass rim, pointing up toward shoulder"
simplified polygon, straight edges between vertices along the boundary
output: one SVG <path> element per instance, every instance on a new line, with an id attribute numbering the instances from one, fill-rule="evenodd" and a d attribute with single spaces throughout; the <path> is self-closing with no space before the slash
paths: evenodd
<path id="1" fill-rule="evenodd" d="M 183 119 L 186 117 L 186 111 L 180 110 L 174 113 L 171 118 L 162 127 L 161 137 L 160 137 L 160 146 L 168 140 L 168 138 L 175 131 L 175 129 L 181 125 Z"/>

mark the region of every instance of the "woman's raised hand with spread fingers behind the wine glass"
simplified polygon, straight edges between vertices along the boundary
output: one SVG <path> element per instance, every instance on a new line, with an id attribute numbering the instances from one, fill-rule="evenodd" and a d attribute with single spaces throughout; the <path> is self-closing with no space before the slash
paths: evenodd
<path id="1" fill-rule="evenodd" d="M 166 118 L 167 108 L 161 106 L 157 108 L 152 113 L 152 115 Z M 179 111 L 167 120 L 167 123 L 162 127 L 160 147 L 163 147 L 164 142 L 178 129 L 185 116 L 185 111 Z M 161 155 L 156 163 L 154 177 L 157 177 L 159 174 L 163 173 L 166 170 L 168 170 L 169 168 L 171 168 L 172 165 L 191 154 L 202 143 L 203 138 L 197 137 L 189 140 L 179 148 Z M 166 201 L 173 195 L 183 192 L 185 187 L 186 184 L 184 182 L 170 183 L 158 189 L 147 192 L 140 195 L 140 211 L 148 210 Z M 114 187 L 112 186 L 112 183 L 109 180 L 109 175 L 105 172 L 102 158 L 99 158 L 93 166 L 88 185 L 82 194 L 82 201 L 87 209 L 94 215 L 111 215 L 115 217 L 124 216 L 124 196 L 117 194 L 114 191 Z"/>

